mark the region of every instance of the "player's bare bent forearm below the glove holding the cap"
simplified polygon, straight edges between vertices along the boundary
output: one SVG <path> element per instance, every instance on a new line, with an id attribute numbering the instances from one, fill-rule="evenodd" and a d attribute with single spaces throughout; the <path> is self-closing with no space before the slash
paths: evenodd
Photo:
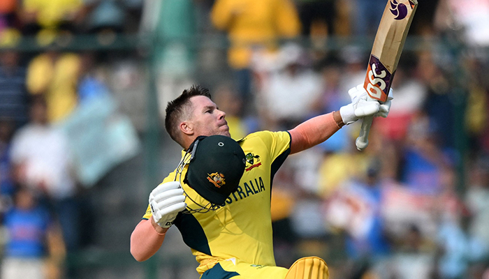
<path id="1" fill-rule="evenodd" d="M 154 227 L 152 223 L 152 218 L 141 220 L 131 234 L 131 255 L 138 262 L 143 262 L 152 257 L 165 239 L 167 229 L 158 225 Z"/>

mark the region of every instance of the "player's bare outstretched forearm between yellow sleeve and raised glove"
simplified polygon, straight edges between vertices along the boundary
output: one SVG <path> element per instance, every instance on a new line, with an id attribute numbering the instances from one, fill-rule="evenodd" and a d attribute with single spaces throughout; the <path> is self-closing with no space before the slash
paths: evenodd
<path id="1" fill-rule="evenodd" d="M 330 112 L 300 123 L 289 130 L 291 134 L 291 153 L 309 149 L 328 140 L 344 126 L 340 112 Z"/>

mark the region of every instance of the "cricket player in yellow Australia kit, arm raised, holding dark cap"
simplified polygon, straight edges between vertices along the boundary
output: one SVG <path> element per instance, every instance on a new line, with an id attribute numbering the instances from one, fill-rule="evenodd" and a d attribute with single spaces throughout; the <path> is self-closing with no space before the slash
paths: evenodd
<path id="1" fill-rule="evenodd" d="M 131 234 L 133 257 L 152 257 L 175 225 L 199 263 L 201 279 L 328 278 L 328 266 L 319 257 L 298 259 L 289 269 L 276 266 L 270 197 L 273 176 L 289 154 L 365 116 L 388 115 L 390 100 L 368 99 L 362 85 L 349 95 L 349 105 L 292 130 L 260 131 L 228 142 L 222 140 L 231 139 L 226 113 L 209 91 L 200 86 L 184 90 L 168 103 L 165 119 L 168 134 L 183 148 L 182 160 L 149 195 L 143 220 Z"/>

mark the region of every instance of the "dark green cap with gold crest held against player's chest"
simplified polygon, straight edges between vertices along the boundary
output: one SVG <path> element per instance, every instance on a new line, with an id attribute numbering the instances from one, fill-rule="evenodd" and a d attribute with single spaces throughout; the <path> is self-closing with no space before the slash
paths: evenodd
<path id="1" fill-rule="evenodd" d="M 184 182 L 212 204 L 224 204 L 245 172 L 245 152 L 224 135 L 200 136 L 189 146 L 191 159 Z"/>

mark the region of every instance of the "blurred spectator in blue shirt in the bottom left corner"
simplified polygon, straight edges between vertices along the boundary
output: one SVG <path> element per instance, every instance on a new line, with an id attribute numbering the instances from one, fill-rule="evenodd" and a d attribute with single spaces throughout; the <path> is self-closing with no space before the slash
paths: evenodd
<path id="1" fill-rule="evenodd" d="M 66 250 L 61 229 L 32 190 L 17 188 L 6 213 L 7 243 L 1 263 L 2 279 L 61 279 Z"/>

